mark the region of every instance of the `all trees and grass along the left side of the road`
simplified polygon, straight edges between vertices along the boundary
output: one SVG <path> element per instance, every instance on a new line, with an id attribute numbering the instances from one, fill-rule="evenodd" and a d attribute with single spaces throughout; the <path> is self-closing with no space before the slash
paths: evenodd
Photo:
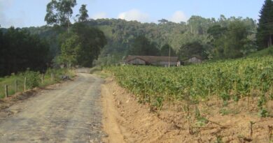
<path id="1" fill-rule="evenodd" d="M 75 66 L 92 67 L 106 38 L 99 29 L 84 24 L 88 17 L 84 4 L 71 24 L 76 4 L 76 0 L 49 1 L 48 26 L 38 33 L 28 28 L 0 29 L 0 98 L 6 96 L 7 89 L 8 95 L 13 95 L 71 78 L 75 74 L 70 69 Z"/>

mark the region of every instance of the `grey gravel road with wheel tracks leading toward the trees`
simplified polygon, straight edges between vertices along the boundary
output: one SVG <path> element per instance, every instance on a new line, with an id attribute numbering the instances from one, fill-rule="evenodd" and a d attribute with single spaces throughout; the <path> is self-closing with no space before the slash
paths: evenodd
<path id="1" fill-rule="evenodd" d="M 0 116 L 0 142 L 100 142 L 102 82 L 78 73 L 73 82 L 7 108 Z"/>

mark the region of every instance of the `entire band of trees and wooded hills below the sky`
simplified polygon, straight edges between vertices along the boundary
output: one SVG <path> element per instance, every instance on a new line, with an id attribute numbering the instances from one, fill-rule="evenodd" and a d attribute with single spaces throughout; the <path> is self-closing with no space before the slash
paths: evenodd
<path id="1" fill-rule="evenodd" d="M 158 20 L 158 23 L 121 19 L 93 20 L 88 17 L 86 5 L 83 5 L 80 7 L 76 22 L 72 23 L 70 19 L 76 1 L 70 1 L 67 4 L 58 0 L 48 3 L 45 15 L 47 25 L 22 29 L 2 28 L 1 38 L 8 38 L 9 33 L 16 31 L 31 38 L 35 37 L 36 43 L 32 43 L 34 50 L 30 50 L 31 53 L 36 53 L 35 50 L 44 50 L 44 52 L 38 52 L 43 53 L 42 56 L 28 56 L 30 52 L 24 50 L 27 52 L 24 54 L 25 57 L 36 57 L 41 60 L 31 60 L 36 61 L 36 65 L 22 66 L 22 70 L 32 67 L 36 67 L 33 68 L 34 70 L 41 70 L 46 63 L 50 66 L 111 65 L 123 61 L 129 54 L 167 56 L 169 47 L 172 50 L 171 56 L 178 56 L 181 60 L 192 56 L 199 56 L 204 60 L 236 59 L 272 45 L 269 32 L 271 24 L 268 24 L 273 21 L 273 15 L 268 10 L 268 7 L 272 5 L 272 1 L 265 1 L 260 10 L 258 22 L 249 17 L 220 15 L 218 18 L 205 18 L 193 15 L 187 22 L 180 23 L 169 22 L 165 19 Z M 64 8 L 64 6 L 68 7 Z M 268 15 L 272 18 L 268 19 Z M 22 53 L 16 50 L 19 46 L 8 45 L 8 41 L 1 40 L 1 44 L 4 45 L 1 46 L 4 47 L 1 48 L 1 52 L 5 52 L 5 48 L 11 50 L 13 48 L 8 47 L 14 46 L 14 51 Z M 19 41 L 14 44 L 22 43 Z M 37 46 L 37 44 L 43 46 Z M 20 48 L 27 49 L 31 46 Z M 1 75 L 19 71 L 20 67 L 15 65 L 23 64 L 18 61 L 26 64 L 27 59 L 24 57 L 22 57 L 24 60 L 18 61 L 15 57 L 20 58 L 15 54 L 5 54 L 1 57 L 2 63 L 10 59 L 8 60 L 10 64 L 5 66 L 14 65 L 12 67 L 15 68 L 11 70 L 3 67 L 7 71 L 2 71 Z"/>

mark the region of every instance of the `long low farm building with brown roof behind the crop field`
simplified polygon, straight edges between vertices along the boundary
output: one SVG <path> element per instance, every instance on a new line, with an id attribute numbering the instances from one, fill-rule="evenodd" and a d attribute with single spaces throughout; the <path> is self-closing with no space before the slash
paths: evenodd
<path id="1" fill-rule="evenodd" d="M 170 61 L 170 62 L 169 62 Z M 132 65 L 176 66 L 178 57 L 127 56 L 125 63 Z"/>

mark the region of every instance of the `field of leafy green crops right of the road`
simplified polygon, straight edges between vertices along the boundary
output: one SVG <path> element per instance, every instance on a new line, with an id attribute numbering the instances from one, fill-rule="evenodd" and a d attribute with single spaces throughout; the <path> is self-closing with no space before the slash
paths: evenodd
<path id="1" fill-rule="evenodd" d="M 130 91 L 140 103 L 158 110 L 163 104 L 186 101 L 191 105 L 216 98 L 226 106 L 246 99 L 247 105 L 257 99 L 262 117 L 269 116 L 267 102 L 273 100 L 273 57 L 236 59 L 202 63 L 179 68 L 153 66 L 113 66 L 118 84 Z"/>

